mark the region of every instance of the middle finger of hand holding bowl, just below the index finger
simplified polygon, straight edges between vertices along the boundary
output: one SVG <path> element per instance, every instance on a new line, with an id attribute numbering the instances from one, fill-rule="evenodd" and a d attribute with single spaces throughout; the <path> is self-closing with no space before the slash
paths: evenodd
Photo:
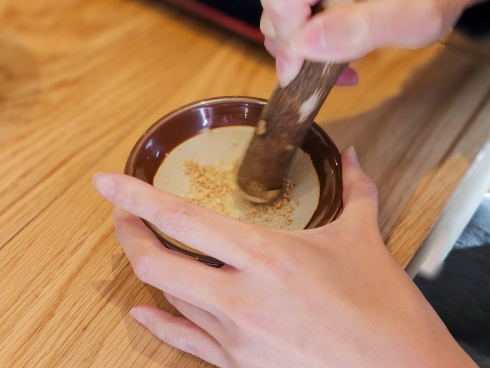
<path id="1" fill-rule="evenodd" d="M 216 285 L 226 285 L 226 274 L 214 267 L 162 246 L 141 219 L 114 209 L 116 237 L 135 275 L 156 288 L 203 309 L 216 309 Z"/>

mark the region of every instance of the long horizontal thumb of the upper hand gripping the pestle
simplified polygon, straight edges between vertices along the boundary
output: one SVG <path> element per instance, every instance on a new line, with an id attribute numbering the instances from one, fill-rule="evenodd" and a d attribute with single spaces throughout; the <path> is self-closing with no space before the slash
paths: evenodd
<path id="1" fill-rule="evenodd" d="M 292 38 L 307 59 L 349 61 L 383 46 L 421 47 L 448 31 L 463 2 L 380 0 L 336 6 L 314 16 Z"/>

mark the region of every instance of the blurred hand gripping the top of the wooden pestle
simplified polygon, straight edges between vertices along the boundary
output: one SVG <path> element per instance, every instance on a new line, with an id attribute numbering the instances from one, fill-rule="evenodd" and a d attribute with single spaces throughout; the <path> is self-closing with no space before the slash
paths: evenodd
<path id="1" fill-rule="evenodd" d="M 311 17 L 318 0 L 262 0 L 260 29 L 276 57 L 283 86 L 298 74 L 304 58 L 352 61 L 384 46 L 418 48 L 448 32 L 475 0 L 330 0 Z M 343 5 L 340 5 L 340 4 Z M 348 71 L 352 75 L 352 71 Z M 348 75 L 339 80 L 349 81 Z"/>

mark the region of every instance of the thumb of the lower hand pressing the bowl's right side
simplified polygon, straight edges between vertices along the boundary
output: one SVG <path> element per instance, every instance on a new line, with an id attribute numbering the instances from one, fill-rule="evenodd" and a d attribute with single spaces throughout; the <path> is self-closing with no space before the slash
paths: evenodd
<path id="1" fill-rule="evenodd" d="M 354 221 L 354 226 L 376 225 L 378 192 L 374 182 L 362 171 L 354 147 L 342 153 L 342 217 Z"/>

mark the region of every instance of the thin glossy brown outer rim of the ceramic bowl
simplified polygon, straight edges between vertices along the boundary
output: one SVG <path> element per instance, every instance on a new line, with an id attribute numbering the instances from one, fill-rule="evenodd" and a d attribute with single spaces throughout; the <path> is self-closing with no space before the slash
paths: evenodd
<path id="1" fill-rule="evenodd" d="M 136 164 L 135 160 L 137 157 L 136 153 L 141 150 L 143 144 L 145 143 L 145 141 L 147 139 L 147 136 L 152 135 L 154 133 L 154 131 L 159 129 L 161 127 L 161 125 L 164 124 L 166 121 L 172 119 L 174 116 L 177 116 L 184 111 L 188 111 L 191 109 L 204 107 L 204 106 L 208 106 L 208 105 L 216 105 L 216 104 L 230 103 L 230 102 L 231 103 L 241 103 L 241 104 L 243 104 L 243 103 L 244 104 L 254 104 L 254 105 L 259 104 L 259 105 L 265 106 L 267 104 L 267 99 L 260 98 L 260 97 L 239 96 L 239 95 L 219 96 L 219 97 L 211 97 L 211 98 L 200 99 L 198 101 L 183 105 L 177 109 L 170 111 L 169 113 L 163 115 L 161 118 L 159 118 L 157 121 L 155 121 L 152 125 L 150 125 L 150 127 L 148 129 L 146 129 L 145 132 L 142 134 L 142 136 L 139 137 L 139 139 L 136 141 L 136 143 L 134 144 L 133 148 L 131 149 L 131 152 L 129 153 L 129 156 L 126 160 L 126 164 L 124 167 L 124 174 L 134 177 L 135 164 Z M 319 135 L 322 136 L 322 139 L 324 139 L 327 143 L 329 143 L 329 145 L 332 148 L 334 148 L 332 150 L 332 152 L 335 156 L 334 157 L 335 161 L 338 163 L 338 171 L 339 171 L 339 176 L 340 176 L 340 181 L 339 181 L 340 185 L 335 186 L 335 193 L 334 193 L 334 198 L 337 197 L 337 198 L 340 198 L 340 200 L 334 200 L 334 202 L 332 204 L 332 207 L 334 208 L 332 219 L 330 221 L 320 220 L 319 223 L 313 227 L 313 228 L 317 228 L 317 227 L 324 226 L 327 223 L 334 221 L 336 218 L 338 218 L 338 216 L 340 215 L 340 213 L 342 211 L 342 208 L 343 208 L 342 165 L 341 165 L 340 152 L 339 152 L 336 144 L 332 141 L 330 136 L 328 136 L 327 132 L 316 122 L 312 123 L 311 128 L 314 129 L 317 133 L 319 133 Z M 335 177 L 337 178 L 337 175 L 335 175 Z M 336 180 L 338 180 L 338 179 L 336 179 Z M 153 185 L 153 184 L 151 184 L 151 185 Z M 142 219 L 142 221 L 145 223 L 145 225 L 148 228 L 150 228 L 150 230 L 152 229 L 152 226 L 150 226 L 151 225 L 150 222 L 148 222 L 144 219 Z M 161 236 L 156 234 L 154 231 L 152 231 L 152 232 L 160 240 L 160 242 L 163 243 L 163 245 L 167 248 L 170 248 L 172 250 L 176 250 L 178 252 L 189 255 L 189 256 L 191 256 L 191 257 L 193 257 L 199 261 L 202 261 L 208 265 L 211 265 L 211 266 L 221 267 L 222 265 L 225 264 L 222 261 L 220 261 L 220 260 L 218 260 L 212 256 L 201 254 L 201 253 L 195 253 L 195 252 L 189 251 L 187 249 L 183 249 L 181 247 L 173 245 L 171 242 L 162 238 Z"/>

